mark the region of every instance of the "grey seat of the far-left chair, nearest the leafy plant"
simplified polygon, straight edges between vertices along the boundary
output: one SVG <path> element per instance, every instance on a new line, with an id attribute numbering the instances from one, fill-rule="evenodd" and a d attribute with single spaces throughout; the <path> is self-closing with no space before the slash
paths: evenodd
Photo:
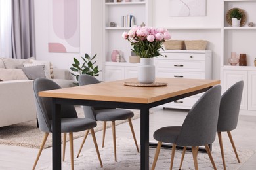
<path id="1" fill-rule="evenodd" d="M 95 118 L 100 121 L 115 121 L 132 118 L 133 112 L 125 109 L 101 109 L 95 110 Z"/>

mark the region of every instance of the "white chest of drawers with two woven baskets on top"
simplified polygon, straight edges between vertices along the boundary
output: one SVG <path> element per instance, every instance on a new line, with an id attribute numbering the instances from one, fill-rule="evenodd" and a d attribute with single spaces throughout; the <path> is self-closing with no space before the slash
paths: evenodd
<path id="1" fill-rule="evenodd" d="M 156 76 L 163 78 L 211 79 L 212 52 L 209 50 L 165 50 L 155 58 Z M 177 109 L 191 109 L 201 95 L 194 95 L 163 105 Z"/>

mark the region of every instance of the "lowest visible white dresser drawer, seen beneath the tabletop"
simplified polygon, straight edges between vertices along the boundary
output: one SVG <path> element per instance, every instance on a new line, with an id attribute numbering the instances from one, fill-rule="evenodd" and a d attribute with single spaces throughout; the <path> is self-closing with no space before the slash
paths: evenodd
<path id="1" fill-rule="evenodd" d="M 197 97 L 197 96 L 186 97 L 184 99 L 173 101 L 171 103 L 167 103 L 161 106 L 175 108 L 175 109 L 191 109 L 192 106 L 196 103 L 196 101 L 198 101 L 199 98 L 200 97 Z"/>

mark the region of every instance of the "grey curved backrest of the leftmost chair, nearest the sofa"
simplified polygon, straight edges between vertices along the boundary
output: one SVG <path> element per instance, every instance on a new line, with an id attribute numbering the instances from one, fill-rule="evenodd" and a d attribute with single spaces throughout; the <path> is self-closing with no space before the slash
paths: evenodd
<path id="1" fill-rule="evenodd" d="M 37 78 L 33 82 L 33 91 L 35 93 L 35 103 L 37 107 L 37 119 L 39 129 L 44 132 L 51 132 L 52 120 L 52 99 L 50 97 L 39 97 L 38 92 L 45 90 L 58 89 L 60 86 L 47 78 Z M 62 118 L 77 118 L 77 112 L 73 105 L 61 105 Z"/>

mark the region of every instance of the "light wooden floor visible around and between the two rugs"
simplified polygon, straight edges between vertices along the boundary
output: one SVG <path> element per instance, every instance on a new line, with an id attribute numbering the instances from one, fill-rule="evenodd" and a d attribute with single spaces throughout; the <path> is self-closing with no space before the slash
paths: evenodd
<path id="1" fill-rule="evenodd" d="M 163 110 L 159 108 L 153 110 L 154 114 L 150 115 L 150 141 L 154 141 L 152 134 L 156 129 L 163 126 L 181 125 L 187 112 L 186 110 Z M 133 126 L 136 137 L 139 140 L 140 120 L 133 120 Z M 117 137 L 132 137 L 129 124 L 125 123 L 117 126 L 116 135 Z M 238 127 L 232 131 L 232 135 L 237 148 L 253 148 L 253 150 L 256 150 L 256 112 L 255 116 L 240 116 Z M 96 139 L 98 141 L 98 146 L 101 147 L 102 131 L 96 132 Z M 81 138 L 74 140 L 75 154 L 79 150 L 81 140 Z M 112 141 L 111 129 L 107 129 L 106 131 L 105 143 L 108 141 Z M 217 138 L 213 144 L 217 144 L 219 146 Z M 230 144 L 226 134 L 223 134 L 223 144 L 224 146 L 225 144 Z M 94 148 L 91 135 L 87 137 L 87 141 L 85 142 L 82 152 L 90 148 Z M 0 145 L 0 169 L 32 169 L 37 151 L 37 149 L 32 148 Z M 66 159 L 69 159 L 68 147 L 66 150 Z M 43 150 L 37 167 L 43 167 L 49 162 L 51 162 L 51 148 Z M 240 168 L 240 170 L 245 169 L 256 169 L 256 154 Z"/>

